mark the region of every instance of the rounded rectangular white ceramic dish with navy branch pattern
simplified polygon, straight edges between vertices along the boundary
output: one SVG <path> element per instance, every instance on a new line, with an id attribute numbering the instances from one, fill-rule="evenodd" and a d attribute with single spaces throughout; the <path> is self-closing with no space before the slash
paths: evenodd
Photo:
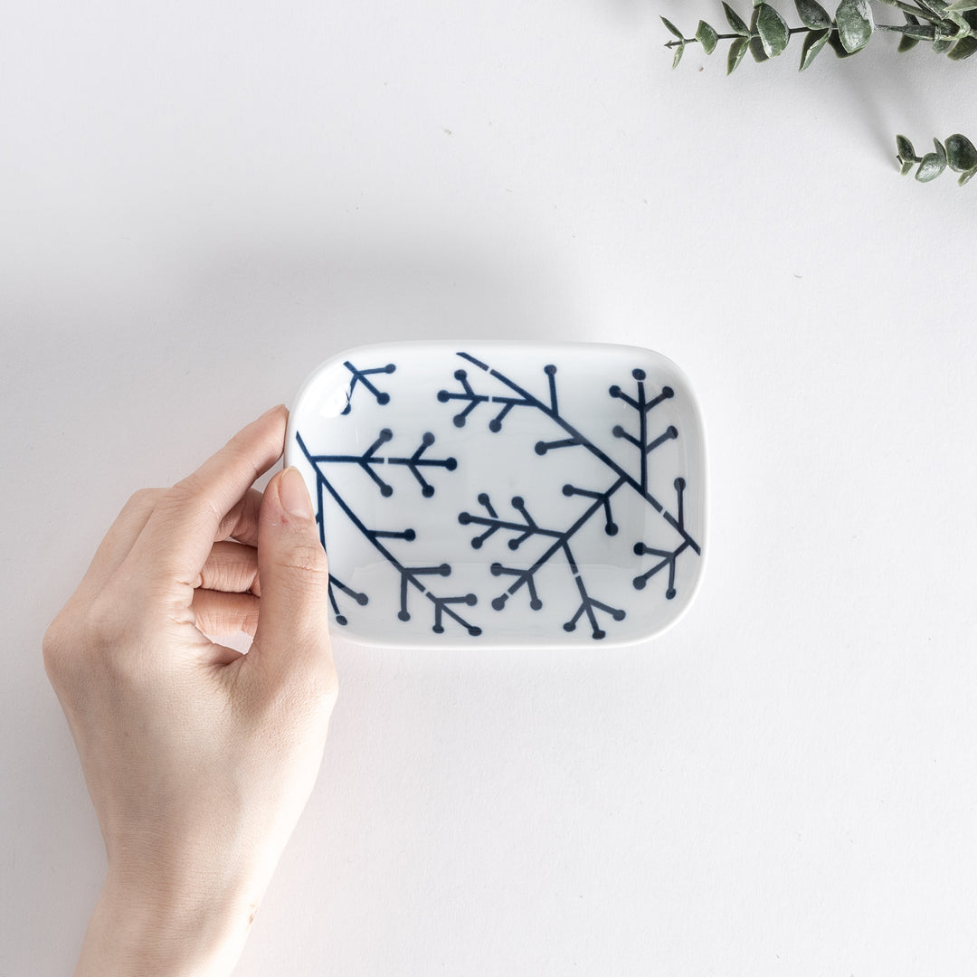
<path id="1" fill-rule="evenodd" d="M 292 408 L 344 633 L 376 646 L 628 644 L 702 571 L 688 381 L 649 350 L 399 343 L 324 362 Z"/>

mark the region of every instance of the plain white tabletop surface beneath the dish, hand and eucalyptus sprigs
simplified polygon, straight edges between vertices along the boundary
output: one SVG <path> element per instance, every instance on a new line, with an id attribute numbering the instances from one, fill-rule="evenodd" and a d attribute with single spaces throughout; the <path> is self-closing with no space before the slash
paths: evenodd
<path id="1" fill-rule="evenodd" d="M 657 15 L 717 10 L 8 5 L 2 977 L 69 972 L 100 887 L 39 647 L 125 498 L 348 346 L 496 336 L 688 373 L 699 599 L 627 650 L 340 644 L 239 972 L 977 968 L 977 184 L 891 159 L 977 136 L 974 64 L 671 72 Z"/>

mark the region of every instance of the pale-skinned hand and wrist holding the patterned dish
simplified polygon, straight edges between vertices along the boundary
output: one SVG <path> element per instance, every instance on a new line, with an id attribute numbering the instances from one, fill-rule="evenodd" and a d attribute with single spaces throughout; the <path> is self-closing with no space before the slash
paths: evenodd
<path id="1" fill-rule="evenodd" d="M 106 845 L 76 977 L 234 966 L 316 782 L 336 672 L 328 573 L 275 407 L 173 488 L 137 492 L 44 662 Z M 245 631 L 246 655 L 213 640 Z"/>

